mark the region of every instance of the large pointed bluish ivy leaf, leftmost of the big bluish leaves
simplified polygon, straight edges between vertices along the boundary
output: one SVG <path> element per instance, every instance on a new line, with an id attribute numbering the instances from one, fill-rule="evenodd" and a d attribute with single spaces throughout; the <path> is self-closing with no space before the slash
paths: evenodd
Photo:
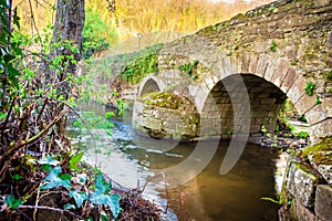
<path id="1" fill-rule="evenodd" d="M 44 181 L 49 182 L 45 186 L 42 186 L 40 189 L 41 190 L 46 190 L 46 189 L 51 189 L 58 186 L 64 187 L 66 189 L 71 189 L 71 180 L 70 179 L 62 179 L 59 177 L 59 175 L 61 173 L 61 167 L 55 167 L 53 168 L 50 173 L 45 177 Z"/>

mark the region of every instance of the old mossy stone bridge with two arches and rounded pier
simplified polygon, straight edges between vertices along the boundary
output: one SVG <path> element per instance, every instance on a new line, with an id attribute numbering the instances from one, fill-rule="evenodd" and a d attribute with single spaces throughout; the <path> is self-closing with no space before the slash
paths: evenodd
<path id="1" fill-rule="evenodd" d="M 331 136 L 331 0 L 281 0 L 164 44 L 158 73 L 138 84 L 133 125 L 179 138 L 253 136 L 274 130 L 289 98 L 313 141 Z"/>

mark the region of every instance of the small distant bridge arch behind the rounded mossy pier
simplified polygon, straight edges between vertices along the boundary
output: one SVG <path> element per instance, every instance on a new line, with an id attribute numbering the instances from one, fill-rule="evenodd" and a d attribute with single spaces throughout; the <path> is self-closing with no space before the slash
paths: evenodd
<path id="1" fill-rule="evenodd" d="M 141 82 L 138 97 L 152 92 L 160 92 L 164 88 L 165 84 L 160 80 L 158 80 L 155 75 L 148 75 Z"/>

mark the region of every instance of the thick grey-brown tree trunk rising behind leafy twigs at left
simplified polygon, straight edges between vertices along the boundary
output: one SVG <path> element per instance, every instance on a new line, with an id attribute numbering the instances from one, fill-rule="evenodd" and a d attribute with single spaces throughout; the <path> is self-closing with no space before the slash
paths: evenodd
<path id="1" fill-rule="evenodd" d="M 58 0 L 56 15 L 54 23 L 54 31 L 51 42 L 52 45 L 56 45 L 49 54 L 49 60 L 52 62 L 56 57 L 63 56 L 61 60 L 61 71 L 51 70 L 46 66 L 44 76 L 44 84 L 56 85 L 58 96 L 63 96 L 64 99 L 69 98 L 71 92 L 71 82 L 68 80 L 69 75 L 75 75 L 76 62 L 82 57 L 82 32 L 84 28 L 85 12 L 84 0 Z M 70 48 L 63 46 L 70 42 Z M 61 45 L 61 44 L 63 45 Z M 60 46 L 58 46 L 58 44 Z M 76 46 L 73 50 L 72 46 Z M 70 59 L 72 56 L 72 59 Z M 63 105 L 55 104 L 50 109 L 52 118 L 54 118 L 63 109 Z M 58 133 L 63 135 L 66 125 L 66 119 L 59 122 Z"/>

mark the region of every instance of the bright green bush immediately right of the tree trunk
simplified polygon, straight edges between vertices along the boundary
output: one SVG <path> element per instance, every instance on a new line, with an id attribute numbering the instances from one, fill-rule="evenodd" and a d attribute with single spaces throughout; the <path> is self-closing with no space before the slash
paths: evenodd
<path id="1" fill-rule="evenodd" d="M 116 31 L 103 21 L 96 11 L 87 7 L 83 30 L 83 56 L 89 59 L 93 53 L 103 51 L 116 42 Z"/>

